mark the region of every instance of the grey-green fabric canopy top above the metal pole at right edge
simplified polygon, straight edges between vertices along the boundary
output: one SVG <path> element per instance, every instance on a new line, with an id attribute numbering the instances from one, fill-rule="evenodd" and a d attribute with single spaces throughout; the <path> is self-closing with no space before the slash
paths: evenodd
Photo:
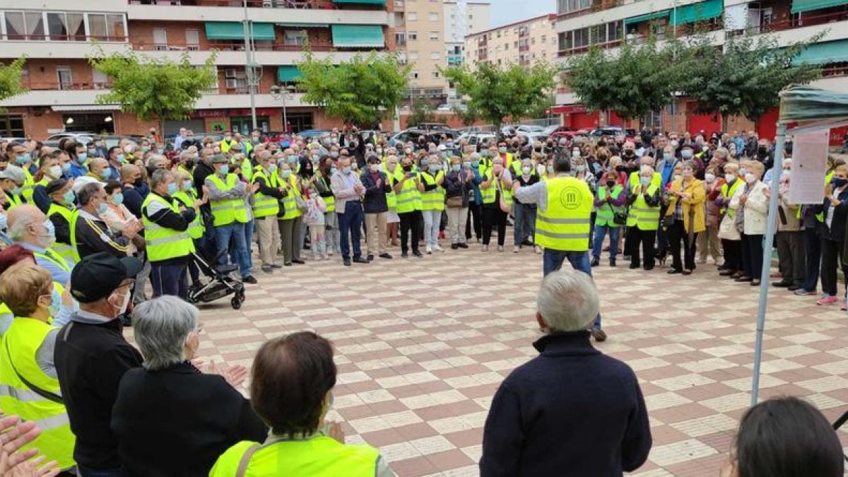
<path id="1" fill-rule="evenodd" d="M 837 121 L 848 118 L 848 93 L 797 86 L 780 93 L 780 122 Z"/>

